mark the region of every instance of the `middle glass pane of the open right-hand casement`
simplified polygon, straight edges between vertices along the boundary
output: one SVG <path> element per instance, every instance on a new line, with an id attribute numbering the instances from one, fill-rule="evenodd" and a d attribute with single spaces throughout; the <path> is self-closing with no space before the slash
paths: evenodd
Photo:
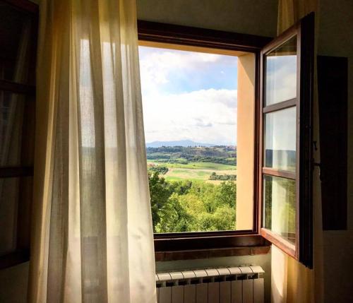
<path id="1" fill-rule="evenodd" d="M 296 109 L 265 114 L 265 167 L 295 172 Z"/>

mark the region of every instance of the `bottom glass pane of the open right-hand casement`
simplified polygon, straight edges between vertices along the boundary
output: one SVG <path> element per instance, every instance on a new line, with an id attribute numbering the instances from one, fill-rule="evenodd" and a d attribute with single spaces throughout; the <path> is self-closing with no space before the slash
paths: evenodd
<path id="1" fill-rule="evenodd" d="M 263 196 L 264 227 L 295 243 L 295 181 L 265 175 Z"/>

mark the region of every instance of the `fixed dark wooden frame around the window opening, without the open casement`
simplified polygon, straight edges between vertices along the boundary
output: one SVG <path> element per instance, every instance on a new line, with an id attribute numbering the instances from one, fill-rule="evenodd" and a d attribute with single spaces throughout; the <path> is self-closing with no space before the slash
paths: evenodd
<path id="1" fill-rule="evenodd" d="M 269 251 L 270 242 L 260 235 L 261 215 L 258 209 L 258 138 L 260 131 L 259 81 L 260 53 L 270 37 L 244 35 L 234 32 L 190 28 L 181 25 L 170 25 L 138 20 L 138 39 L 140 41 L 163 44 L 179 44 L 208 49 L 226 49 L 255 54 L 255 155 L 254 155 L 254 203 L 253 229 L 221 232 L 176 232 L 155 234 L 155 254 L 157 261 L 194 259 L 205 256 L 234 256 L 241 254 L 264 254 Z M 172 46 L 171 46 L 172 47 Z M 265 249 L 263 248 L 265 247 Z"/>

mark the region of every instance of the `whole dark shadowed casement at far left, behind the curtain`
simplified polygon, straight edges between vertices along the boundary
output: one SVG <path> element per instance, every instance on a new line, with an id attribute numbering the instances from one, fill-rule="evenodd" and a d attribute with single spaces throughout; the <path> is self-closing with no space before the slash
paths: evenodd
<path id="1" fill-rule="evenodd" d="M 29 259 L 37 5 L 0 2 L 1 269 Z"/>

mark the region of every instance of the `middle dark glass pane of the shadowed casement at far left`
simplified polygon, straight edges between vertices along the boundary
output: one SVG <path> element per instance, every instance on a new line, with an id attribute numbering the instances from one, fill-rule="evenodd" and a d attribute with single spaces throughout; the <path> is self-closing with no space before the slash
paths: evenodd
<path id="1" fill-rule="evenodd" d="M 0 91 L 0 166 L 32 165 L 35 102 Z"/>

